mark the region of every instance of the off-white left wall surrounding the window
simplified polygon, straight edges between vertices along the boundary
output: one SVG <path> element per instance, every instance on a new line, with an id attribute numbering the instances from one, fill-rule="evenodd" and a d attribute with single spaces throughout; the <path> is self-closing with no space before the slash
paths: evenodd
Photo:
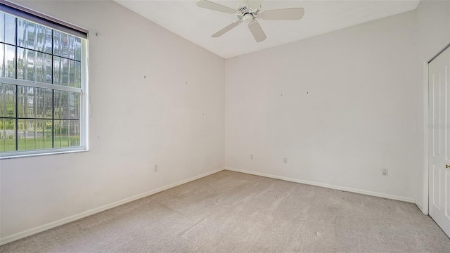
<path id="1" fill-rule="evenodd" d="M 91 150 L 0 160 L 1 238 L 223 166 L 222 58 L 112 1 L 18 3 L 99 33 Z"/>

